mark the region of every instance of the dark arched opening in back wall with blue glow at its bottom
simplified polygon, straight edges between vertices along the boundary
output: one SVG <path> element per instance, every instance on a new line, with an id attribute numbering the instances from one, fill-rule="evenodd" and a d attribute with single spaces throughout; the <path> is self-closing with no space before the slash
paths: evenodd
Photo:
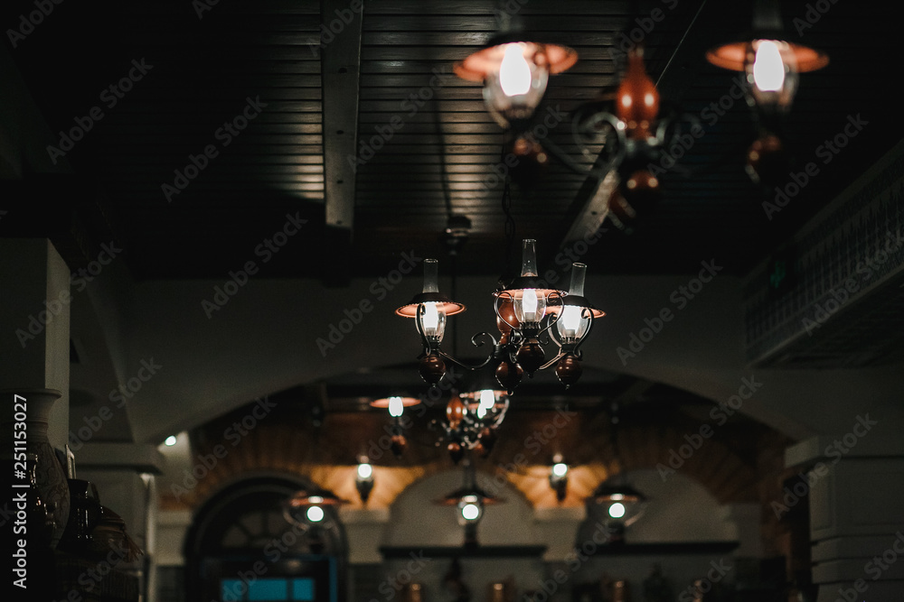
<path id="1" fill-rule="evenodd" d="M 347 544 L 331 508 L 323 526 L 289 523 L 298 480 L 256 477 L 226 486 L 194 514 L 184 543 L 186 599 L 334 602 L 344 598 Z"/>

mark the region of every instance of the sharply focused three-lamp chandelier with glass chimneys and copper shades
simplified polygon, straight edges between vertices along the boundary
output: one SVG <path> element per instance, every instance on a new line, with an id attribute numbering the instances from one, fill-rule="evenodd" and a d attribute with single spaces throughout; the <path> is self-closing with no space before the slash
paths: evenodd
<path id="1" fill-rule="evenodd" d="M 571 265 L 569 292 L 549 288 L 538 276 L 535 244 L 533 239 L 524 239 L 521 275 L 493 293 L 498 340 L 487 332 L 471 338 L 475 347 L 481 347 L 485 339 L 493 342 L 493 349 L 476 366 L 463 363 L 440 347 L 447 316 L 464 311 L 465 306 L 439 294 L 437 260 L 425 260 L 424 292 L 415 295 L 396 313 L 415 319 L 424 349 L 419 356 L 420 375 L 428 384 L 438 384 L 446 374 L 446 360 L 471 370 L 493 363 L 496 381 L 508 394 L 513 394 L 525 372 L 532 376 L 553 364 L 557 365 L 556 374 L 566 387 L 578 380 L 579 347 L 587 338 L 593 320 L 605 313 L 584 297 L 585 264 Z M 540 338 L 547 332 L 558 344 L 559 351 L 544 363 L 546 354 Z"/>

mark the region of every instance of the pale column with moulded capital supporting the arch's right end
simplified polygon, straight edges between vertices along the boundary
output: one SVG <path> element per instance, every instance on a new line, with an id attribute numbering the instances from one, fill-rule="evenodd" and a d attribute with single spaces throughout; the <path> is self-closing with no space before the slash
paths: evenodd
<path id="1" fill-rule="evenodd" d="M 786 450 L 797 481 L 781 504 L 810 505 L 817 602 L 904 599 L 904 437 L 861 413 L 851 430 Z"/>

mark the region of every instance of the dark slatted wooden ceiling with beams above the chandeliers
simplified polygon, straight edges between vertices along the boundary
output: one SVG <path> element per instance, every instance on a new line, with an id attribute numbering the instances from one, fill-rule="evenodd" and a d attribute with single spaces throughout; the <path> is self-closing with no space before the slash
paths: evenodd
<path id="1" fill-rule="evenodd" d="M 306 0 L 53 5 L 15 47 L 6 35 L 6 49 L 53 132 L 70 129 L 91 107 L 101 107 L 104 116 L 67 154 L 73 177 L 39 199 L 33 189 L 7 182 L 5 190 L 31 190 L 20 192 L 27 199 L 7 199 L 45 215 L 76 208 L 98 242 L 120 242 L 139 279 L 223 277 L 254 259 L 256 245 L 282 227 L 287 213 L 309 221 L 264 266 L 268 275 L 338 272 L 341 282 L 386 273 L 403 251 L 442 256 L 439 238 L 449 214 L 465 215 L 473 225 L 458 258 L 460 273 L 501 273 L 503 187 L 484 183 L 492 182 L 504 134 L 486 113 L 480 87 L 450 75 L 454 61 L 496 31 L 494 5 L 370 0 L 363 11 L 360 65 L 341 67 L 344 73 L 333 69 L 349 54 L 346 45 L 357 41 L 353 26 L 344 26 L 320 52 L 310 46 L 321 23 L 338 18 L 335 10 L 344 10 L 343 3 L 325 0 L 323 14 L 321 2 Z M 623 68 L 613 51 L 619 33 L 639 31 L 660 10 L 663 18 L 644 36 L 648 71 L 664 101 L 700 116 L 729 92 L 734 77 L 706 63 L 703 51 L 747 30 L 751 14 L 747 3 L 717 0 L 505 5 L 517 9 L 529 29 L 579 52 L 573 69 L 551 78 L 540 114 L 548 107 L 571 111 L 611 92 Z M 807 6 L 782 3 L 792 34 L 806 19 Z M 827 51 L 831 63 L 801 77 L 786 144 L 802 168 L 819 161 L 815 149 L 843 131 L 848 116 L 862 115 L 869 123 L 862 133 L 831 164 L 820 163 L 818 176 L 769 220 L 760 202 L 774 192 L 764 193 L 744 173 L 742 155 L 754 128 L 748 107 L 735 102 L 683 158 L 702 171 L 690 178 L 678 171 L 666 175 L 663 204 L 635 235 L 609 227 L 585 257 L 591 273 L 683 273 L 713 257 L 744 273 L 900 139 L 899 122 L 890 119 L 901 58 L 897 46 L 890 50 L 899 8 L 829 6 L 803 30 L 802 41 Z M 30 1 L 6 2 L 2 22 L 15 27 L 20 15 L 33 10 Z M 132 60 L 153 68 L 108 107 L 102 90 L 126 76 Z M 338 73 L 357 79 L 357 98 L 340 88 L 344 79 Z M 433 79 L 431 88 L 437 73 L 445 75 Z M 428 97 L 420 107 L 410 100 L 418 94 Z M 248 97 L 259 97 L 266 108 L 225 146 L 216 132 L 240 115 Z M 339 116 L 328 128 L 327 111 Z M 355 131 L 359 148 L 371 144 L 394 117 L 400 127 L 359 166 L 353 181 L 325 186 L 325 173 L 329 179 L 342 172 L 335 161 L 325 166 L 325 144 L 348 147 Z M 589 165 L 570 133 L 570 118 L 551 141 Z M 189 155 L 207 144 L 217 146 L 218 156 L 167 202 L 162 186 L 172 184 L 174 170 L 183 170 Z M 325 190 L 354 191 L 346 199 L 353 204 L 348 232 L 326 226 L 325 206 L 342 202 L 344 193 L 330 199 Z M 541 255 L 550 258 L 587 199 L 585 178 L 554 162 L 532 185 L 513 187 L 516 238 L 536 237 Z M 14 215 L 0 226 L 4 236 L 27 230 Z"/>

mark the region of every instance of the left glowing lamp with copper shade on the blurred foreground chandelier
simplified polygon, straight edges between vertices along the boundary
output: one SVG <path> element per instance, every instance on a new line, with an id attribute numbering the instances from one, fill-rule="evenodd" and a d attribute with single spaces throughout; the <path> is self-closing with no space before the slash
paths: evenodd
<path id="1" fill-rule="evenodd" d="M 514 28 L 495 35 L 453 69 L 461 79 L 484 84 L 484 102 L 496 123 L 520 130 L 540 104 L 549 76 L 577 61 L 578 53 L 567 46 L 537 42 Z"/>

